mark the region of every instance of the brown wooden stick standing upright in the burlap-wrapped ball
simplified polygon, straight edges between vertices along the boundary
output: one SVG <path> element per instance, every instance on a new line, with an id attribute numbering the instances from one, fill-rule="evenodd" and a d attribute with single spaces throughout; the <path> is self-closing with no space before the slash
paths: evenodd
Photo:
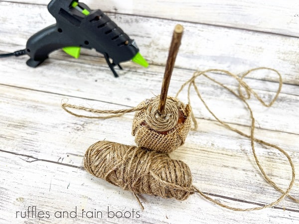
<path id="1" fill-rule="evenodd" d="M 182 25 L 177 24 L 174 27 L 172 40 L 171 40 L 171 44 L 170 44 L 170 49 L 169 49 L 169 53 L 168 53 L 168 58 L 167 58 L 167 63 L 166 63 L 166 67 L 165 67 L 165 72 L 164 72 L 164 78 L 163 78 L 163 83 L 162 83 L 162 88 L 161 88 L 159 106 L 158 106 L 158 112 L 160 114 L 164 113 L 164 108 L 165 108 L 165 103 L 166 103 L 170 78 L 171 78 L 171 75 L 172 75 L 176 55 L 177 55 L 179 46 L 181 44 L 183 30 L 184 30 L 184 28 L 183 28 Z"/>

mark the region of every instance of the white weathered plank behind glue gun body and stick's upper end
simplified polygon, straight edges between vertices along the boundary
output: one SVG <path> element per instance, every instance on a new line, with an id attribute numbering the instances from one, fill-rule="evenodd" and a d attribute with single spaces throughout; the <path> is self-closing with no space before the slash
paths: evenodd
<path id="1" fill-rule="evenodd" d="M 17 50 L 19 46 L 24 48 L 29 36 L 54 23 L 54 18 L 41 5 L 2 2 L 0 8 L 0 43 L 4 43 L 0 49 L 6 52 Z M 136 39 L 151 65 L 165 65 L 171 32 L 177 21 L 110 15 Z M 36 18 L 39 18 L 38 22 Z M 175 64 L 177 68 L 191 71 L 220 68 L 240 73 L 255 67 L 272 67 L 284 75 L 285 83 L 299 84 L 298 38 L 189 22 L 182 22 L 182 25 L 185 35 Z M 64 54 L 62 60 L 69 57 Z M 14 59 L 1 59 L 0 63 L 5 65 L 7 60 Z M 276 80 L 271 75 L 265 75 L 265 79 Z"/>

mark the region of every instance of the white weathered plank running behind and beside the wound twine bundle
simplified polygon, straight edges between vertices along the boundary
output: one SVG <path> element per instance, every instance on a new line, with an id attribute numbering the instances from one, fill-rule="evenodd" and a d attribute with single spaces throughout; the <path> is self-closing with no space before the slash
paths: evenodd
<path id="1" fill-rule="evenodd" d="M 0 117 L 1 126 L 5 128 L 0 132 L 0 150 L 27 155 L 27 162 L 48 161 L 79 167 L 86 148 L 98 140 L 134 144 L 131 136 L 133 114 L 106 120 L 77 118 L 60 108 L 63 98 L 57 94 L 2 86 Z M 110 109 L 116 107 L 108 103 L 88 102 Z M 262 204 L 279 197 L 260 176 L 248 140 L 214 121 L 198 121 L 200 129 L 190 132 L 185 145 L 171 153 L 172 158 L 181 159 L 190 166 L 196 186 L 205 192 Z M 247 129 L 236 127 L 242 131 Z M 298 135 L 257 130 L 257 136 L 287 150 L 298 171 Z M 256 147 L 266 172 L 286 188 L 291 176 L 286 159 L 273 149 Z M 298 185 L 292 194 L 299 197 Z M 297 204 L 287 200 L 280 205 L 298 208 Z"/>

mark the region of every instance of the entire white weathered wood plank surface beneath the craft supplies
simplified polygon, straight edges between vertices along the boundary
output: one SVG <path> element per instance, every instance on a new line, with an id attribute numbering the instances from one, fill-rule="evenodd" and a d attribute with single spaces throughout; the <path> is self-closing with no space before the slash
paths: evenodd
<path id="1" fill-rule="evenodd" d="M 293 158 L 299 173 L 299 1 L 298 0 L 85 0 L 101 8 L 134 38 L 150 66 L 124 63 L 115 79 L 102 55 L 85 50 L 75 60 L 61 50 L 42 66 L 26 66 L 27 56 L 0 59 L 0 223 L 298 223 L 299 204 L 285 199 L 256 212 L 233 212 L 199 195 L 186 201 L 144 195 L 141 211 L 132 193 L 123 191 L 81 168 L 85 150 L 98 140 L 135 144 L 131 136 L 134 114 L 93 120 L 64 112 L 62 101 L 98 109 L 134 107 L 160 92 L 173 27 L 185 27 L 169 95 L 196 70 L 227 69 L 241 73 L 268 66 L 282 73 L 284 86 L 272 108 L 250 100 L 257 137 L 278 144 Z M 48 0 L 0 0 L 0 53 L 23 49 L 27 39 L 55 19 Z M 214 74 L 236 87 L 231 78 Z M 266 101 L 278 87 L 273 73 L 246 79 Z M 228 92 L 206 79 L 199 88 L 211 109 L 226 122 L 248 132 L 249 113 Z M 185 101 L 186 93 L 181 95 Z M 249 208 L 278 199 L 262 178 L 250 141 L 220 126 L 192 92 L 199 123 L 184 146 L 171 157 L 186 162 L 193 183 L 229 206 Z M 256 145 L 267 174 L 286 189 L 291 169 L 278 151 Z M 291 195 L 299 198 L 299 180 Z M 16 218 L 29 206 L 48 211 L 50 218 Z M 140 218 L 107 218 L 117 212 L 139 211 Z M 56 219 L 56 211 L 77 219 Z M 85 211 L 101 211 L 103 218 L 82 218 Z M 128 215 L 128 213 L 127 213 Z"/>

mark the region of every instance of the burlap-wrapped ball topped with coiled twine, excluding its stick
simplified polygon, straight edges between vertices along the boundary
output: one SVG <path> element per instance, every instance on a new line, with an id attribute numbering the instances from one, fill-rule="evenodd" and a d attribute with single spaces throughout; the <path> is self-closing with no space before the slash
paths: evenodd
<path id="1" fill-rule="evenodd" d="M 132 135 L 139 147 L 156 152 L 171 152 L 184 144 L 191 128 L 191 108 L 176 98 L 167 97 L 163 114 L 158 112 L 159 97 L 138 105 L 144 110 L 135 112 Z"/>

